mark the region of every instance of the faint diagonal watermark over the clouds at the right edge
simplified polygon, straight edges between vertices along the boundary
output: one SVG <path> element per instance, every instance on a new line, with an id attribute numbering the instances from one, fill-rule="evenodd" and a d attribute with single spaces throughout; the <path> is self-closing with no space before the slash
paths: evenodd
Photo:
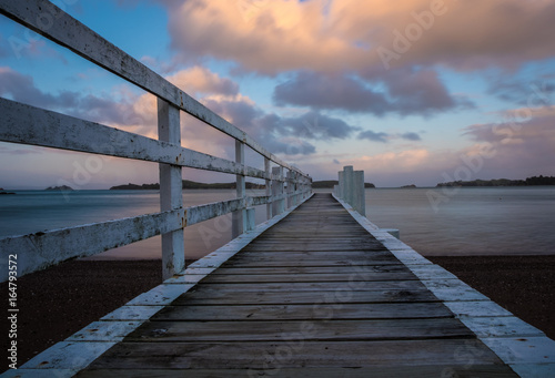
<path id="1" fill-rule="evenodd" d="M 523 129 L 523 123 L 532 120 L 534 112 L 537 112 L 541 105 L 548 106 L 552 103 L 549 84 L 547 82 L 543 82 L 542 84 L 531 83 L 529 89 L 531 93 L 526 99 L 526 106 L 505 114 L 504 122 L 492 126 L 492 133 L 502 137 L 500 144 L 509 145 L 518 143 L 519 139 L 517 137 L 517 133 Z M 472 155 L 461 154 L 460 160 L 462 164 L 453 170 L 451 174 L 448 172 L 442 173 L 444 183 L 475 180 L 476 175 L 484 167 L 485 161 L 497 154 L 497 149 L 493 143 L 484 142 L 477 145 L 477 151 Z M 441 191 L 428 190 L 426 192 L 426 197 L 434 213 L 440 211 L 441 204 L 448 203 L 460 190 L 461 186 L 456 184 L 443 185 Z"/>

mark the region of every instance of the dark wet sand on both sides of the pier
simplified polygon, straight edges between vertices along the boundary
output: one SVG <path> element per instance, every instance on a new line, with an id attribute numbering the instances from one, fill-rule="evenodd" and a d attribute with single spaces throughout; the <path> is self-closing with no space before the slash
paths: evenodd
<path id="1" fill-rule="evenodd" d="M 427 258 L 555 338 L 555 256 Z M 18 366 L 161 280 L 161 260 L 71 260 L 20 277 Z M 0 293 L 8 293 L 7 283 Z M 7 317 L 1 318 L 8 335 Z M 2 340 L 6 354 L 9 340 Z M 3 362 L 0 371 L 7 368 Z"/>

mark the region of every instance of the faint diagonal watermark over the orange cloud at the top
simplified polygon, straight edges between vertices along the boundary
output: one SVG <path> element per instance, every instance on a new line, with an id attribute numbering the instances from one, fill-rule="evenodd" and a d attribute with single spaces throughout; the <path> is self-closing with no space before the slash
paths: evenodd
<path id="1" fill-rule="evenodd" d="M 457 0 L 452 0 L 457 1 Z M 391 49 L 383 45 L 377 48 L 377 54 L 383 67 L 389 70 L 392 60 L 400 60 L 414 43 L 416 43 L 425 31 L 433 28 L 436 18 L 445 14 L 448 8 L 444 0 L 431 0 L 428 10 L 413 11 L 411 17 L 414 22 L 408 23 L 403 30 L 393 30 L 393 42 Z"/>

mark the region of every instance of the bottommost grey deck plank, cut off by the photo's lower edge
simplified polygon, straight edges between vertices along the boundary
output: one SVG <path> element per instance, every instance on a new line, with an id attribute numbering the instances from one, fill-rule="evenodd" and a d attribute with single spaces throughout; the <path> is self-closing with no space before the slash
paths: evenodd
<path id="1" fill-rule="evenodd" d="M 541 368 L 541 367 L 539 367 Z M 537 371 L 537 368 L 536 368 Z M 547 370 L 545 370 L 547 371 Z M 553 370 L 549 370 L 553 371 Z M 289 377 L 289 378 L 392 378 L 392 377 L 412 377 L 412 378 L 430 378 L 430 377 L 457 377 L 457 378 L 515 378 L 518 377 L 508 366 L 505 365 L 477 365 L 477 364 L 448 364 L 448 365 L 418 365 L 418 366 L 389 366 L 389 367 L 325 367 L 301 369 L 294 368 L 244 368 L 244 369 L 127 369 L 125 374 L 130 377 L 159 377 L 182 378 L 186 375 L 188 378 L 206 378 L 206 377 Z M 81 371 L 79 378 L 121 378 L 122 370 L 119 369 L 90 369 Z M 538 376 L 547 377 L 547 375 Z"/>

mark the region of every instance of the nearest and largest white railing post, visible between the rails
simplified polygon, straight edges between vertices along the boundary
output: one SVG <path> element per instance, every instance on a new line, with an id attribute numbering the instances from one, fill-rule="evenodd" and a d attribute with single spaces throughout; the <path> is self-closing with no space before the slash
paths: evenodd
<path id="1" fill-rule="evenodd" d="M 181 145 L 180 111 L 158 99 L 158 139 Z M 160 210 L 183 207 L 181 166 L 160 164 Z M 168 279 L 185 267 L 183 228 L 162 234 L 162 278 Z"/>

